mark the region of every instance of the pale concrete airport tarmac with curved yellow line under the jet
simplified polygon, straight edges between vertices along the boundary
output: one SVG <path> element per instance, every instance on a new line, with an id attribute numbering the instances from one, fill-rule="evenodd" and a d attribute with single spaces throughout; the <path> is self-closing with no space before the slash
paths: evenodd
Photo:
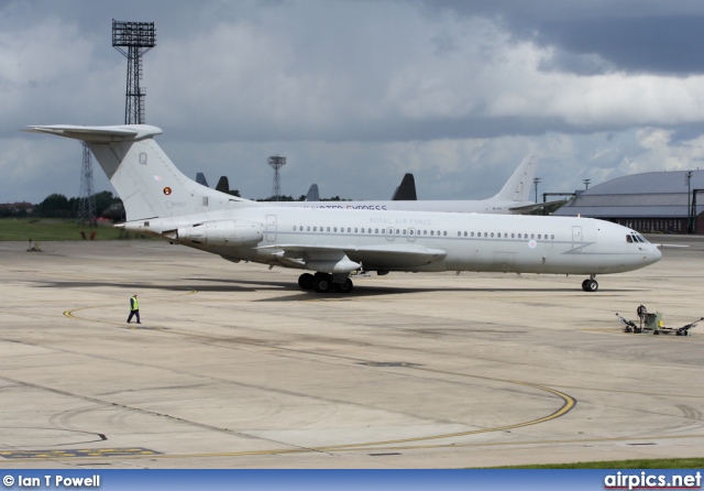
<path id="1" fill-rule="evenodd" d="M 2 468 L 461 468 L 704 456 L 704 238 L 598 276 L 350 295 L 156 241 L 0 242 Z M 125 323 L 139 294 L 142 324 Z"/>

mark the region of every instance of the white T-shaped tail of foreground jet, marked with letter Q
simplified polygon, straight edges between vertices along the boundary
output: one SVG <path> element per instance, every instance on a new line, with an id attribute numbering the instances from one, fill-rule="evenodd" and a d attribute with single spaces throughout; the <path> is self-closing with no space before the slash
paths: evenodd
<path id="1" fill-rule="evenodd" d="M 246 201 L 186 177 L 154 141 L 162 133 L 156 127 L 55 124 L 25 131 L 85 141 L 124 203 L 129 221 L 213 211 Z"/>

